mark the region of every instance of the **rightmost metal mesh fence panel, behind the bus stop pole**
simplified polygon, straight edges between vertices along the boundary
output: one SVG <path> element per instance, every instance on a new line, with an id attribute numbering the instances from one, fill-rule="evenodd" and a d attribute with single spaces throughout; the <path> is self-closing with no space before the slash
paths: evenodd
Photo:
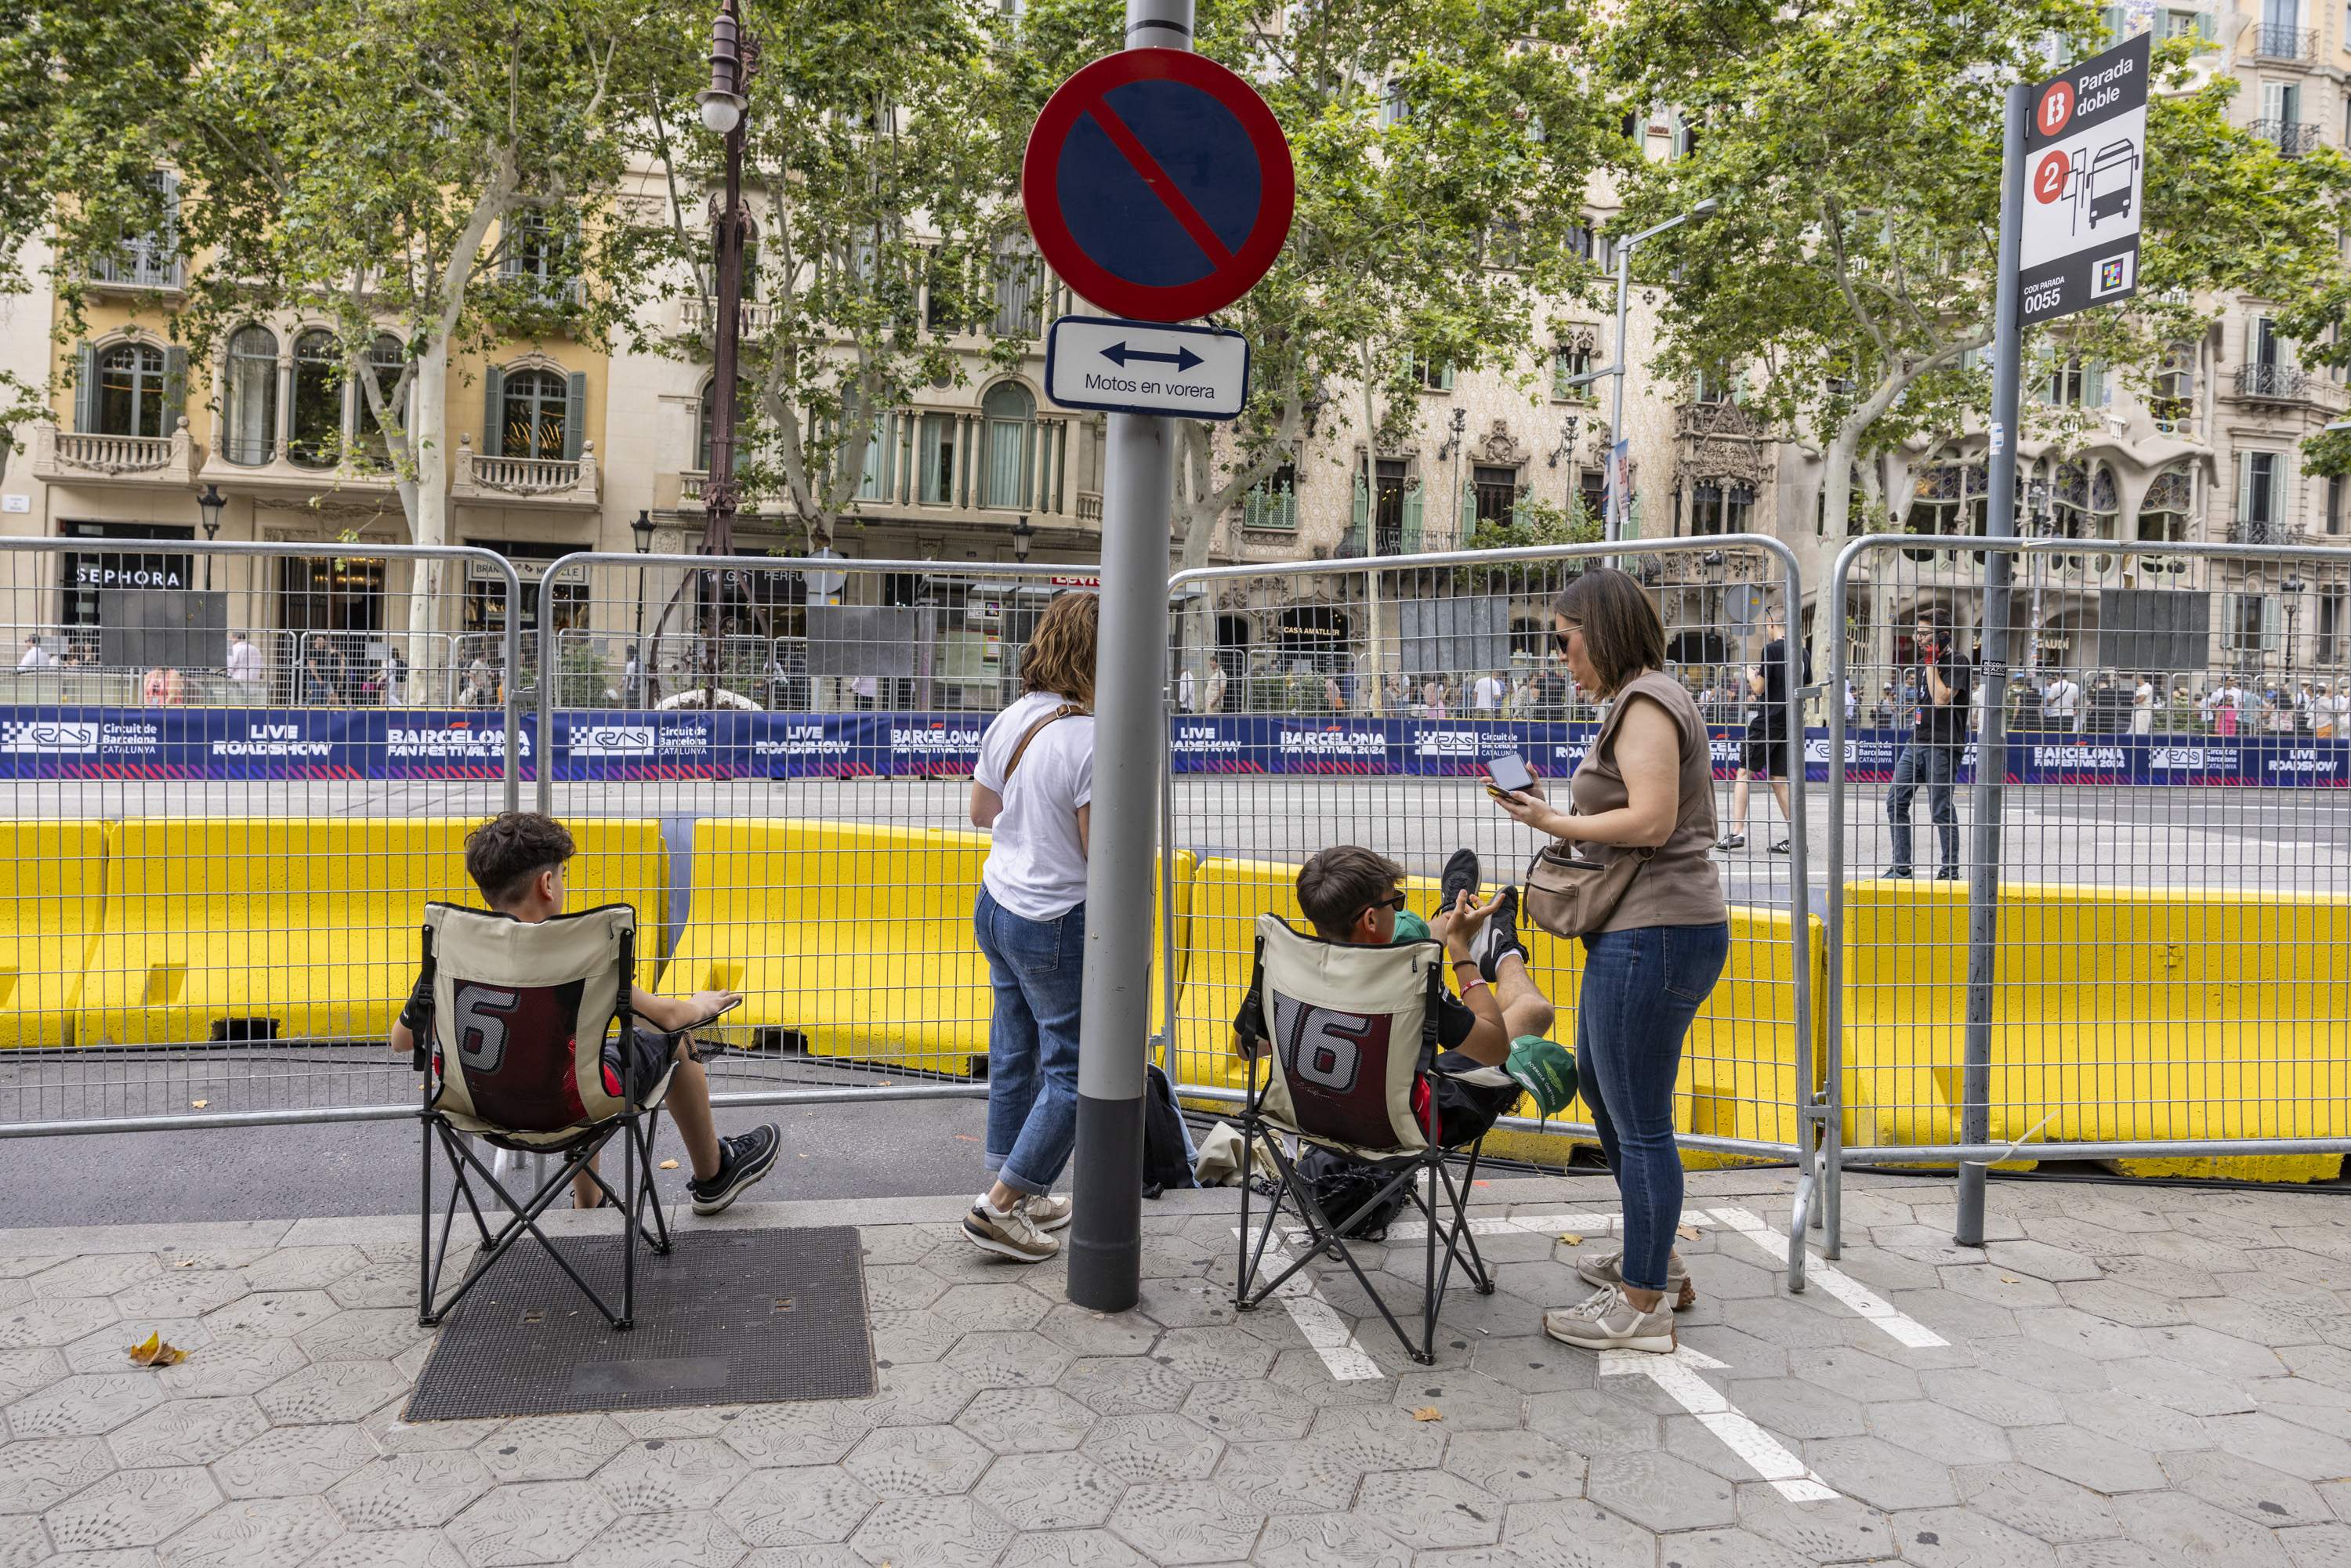
<path id="1" fill-rule="evenodd" d="M 1991 555 L 2012 564 L 2008 670 L 1975 663 Z M 1871 536 L 1822 602 L 1848 628 L 1829 691 L 1853 689 L 1824 745 L 1831 1171 L 2332 1173 L 2351 1152 L 2351 552 Z M 1895 738 L 1921 703 L 1921 611 L 1970 675 L 1949 748 Z M 1991 701 L 2005 766 L 1977 785 Z M 1940 785 L 1944 762 L 1954 842 L 1940 788 L 1916 790 L 1895 877 L 1893 785 Z M 1989 813 L 1996 865 L 1975 853 Z"/>

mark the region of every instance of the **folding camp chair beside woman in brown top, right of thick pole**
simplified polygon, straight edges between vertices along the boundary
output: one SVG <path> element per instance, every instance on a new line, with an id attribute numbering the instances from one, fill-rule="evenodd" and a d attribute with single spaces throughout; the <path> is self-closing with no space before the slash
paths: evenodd
<path id="1" fill-rule="evenodd" d="M 1241 1114 L 1241 1276 L 1234 1305 L 1244 1312 L 1260 1305 L 1302 1269 L 1317 1253 L 1328 1253 L 1371 1295 L 1387 1326 L 1404 1340 L 1404 1352 L 1427 1366 L 1436 1359 L 1436 1309 L 1446 1300 L 1453 1267 L 1467 1269 L 1479 1295 L 1493 1293 L 1493 1276 L 1469 1234 L 1465 1201 L 1476 1180 L 1483 1133 L 1469 1143 L 1469 1168 L 1455 1187 L 1446 1171 L 1444 1128 L 1436 1126 L 1436 1095 L 1429 1084 L 1436 1060 L 1436 994 L 1444 947 L 1436 943 L 1396 943 L 1394 947 L 1359 947 L 1302 936 L 1274 914 L 1258 917 L 1258 999 L 1274 1048 L 1260 1088 L 1258 1067 L 1248 1067 L 1248 1105 Z M 1486 1074 L 1493 1074 L 1491 1079 Z M 1507 1084 L 1498 1067 L 1462 1074 L 1474 1084 Z M 1248 1222 L 1248 1164 L 1258 1133 L 1277 1131 L 1314 1143 L 1338 1154 L 1378 1161 L 1392 1171 L 1378 1192 L 1345 1215 L 1324 1213 L 1312 1182 L 1298 1173 L 1298 1157 L 1286 1138 L 1267 1138 L 1279 1182 L 1274 1206 L 1262 1229 Z M 1364 1274 L 1347 1246 L 1347 1229 L 1364 1213 L 1378 1211 L 1401 1190 L 1427 1220 L 1427 1251 L 1420 1300 L 1420 1342 L 1406 1333 L 1380 1291 Z M 1444 1204 L 1439 1204 L 1444 1192 Z M 1251 1293 L 1265 1246 L 1274 1237 L 1284 1204 L 1295 1204 L 1307 1229 L 1305 1253 Z M 1439 1246 L 1444 1262 L 1439 1265 Z M 1279 1260 L 1279 1253 L 1277 1253 Z"/>

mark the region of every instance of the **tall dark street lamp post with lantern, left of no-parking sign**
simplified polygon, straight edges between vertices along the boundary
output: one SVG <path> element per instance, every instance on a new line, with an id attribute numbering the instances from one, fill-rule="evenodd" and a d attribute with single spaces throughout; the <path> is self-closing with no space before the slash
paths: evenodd
<path id="1" fill-rule="evenodd" d="M 712 303 L 710 381 L 710 475 L 703 480 L 703 555 L 734 555 L 736 515 L 736 357 L 743 339 L 743 129 L 750 80 L 759 68 L 759 42 L 743 31 L 736 0 L 719 0 L 710 21 L 710 87 L 696 96 L 703 127 L 724 136 L 726 190 L 710 212 L 710 259 L 717 273 Z M 703 574 L 708 658 L 703 710 L 717 708 L 719 684 L 719 578 Z"/>

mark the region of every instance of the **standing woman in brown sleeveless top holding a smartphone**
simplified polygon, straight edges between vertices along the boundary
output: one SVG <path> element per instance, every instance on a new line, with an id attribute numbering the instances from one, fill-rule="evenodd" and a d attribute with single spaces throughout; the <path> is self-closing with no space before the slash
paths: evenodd
<path id="1" fill-rule="evenodd" d="M 1516 820 L 1587 860 L 1646 856 L 1615 910 L 1589 931 L 1575 1011 L 1575 1067 L 1625 1199 L 1625 1246 L 1575 1265 L 1594 1295 L 1542 1314 L 1542 1331 L 1592 1349 L 1674 1349 L 1674 1309 L 1697 1300 L 1674 1255 L 1681 1150 L 1674 1074 L 1681 1041 L 1730 952 L 1714 846 L 1714 750 L 1697 703 L 1665 675 L 1665 625 L 1632 576 L 1599 567 L 1552 599 L 1552 635 L 1608 719 L 1568 785 L 1573 811 L 1540 783 L 1495 795 Z"/>

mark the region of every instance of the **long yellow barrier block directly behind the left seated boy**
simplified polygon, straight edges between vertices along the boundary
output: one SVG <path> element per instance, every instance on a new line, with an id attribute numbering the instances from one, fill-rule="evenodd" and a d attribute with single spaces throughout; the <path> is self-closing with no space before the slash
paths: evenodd
<path id="1" fill-rule="evenodd" d="M 416 980 L 428 900 L 480 905 L 473 818 L 132 818 L 106 853 L 75 1039 L 371 1039 Z M 658 966 L 661 825 L 578 818 L 569 905 L 632 903 Z"/>

